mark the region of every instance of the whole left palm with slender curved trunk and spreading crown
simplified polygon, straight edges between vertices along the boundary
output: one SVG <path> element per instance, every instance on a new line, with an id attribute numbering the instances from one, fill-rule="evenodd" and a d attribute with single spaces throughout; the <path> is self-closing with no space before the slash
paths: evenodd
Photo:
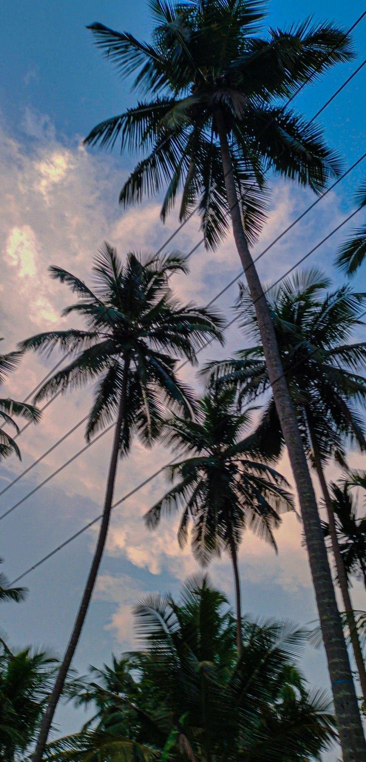
<path id="1" fill-rule="evenodd" d="M 94 261 L 94 290 L 62 267 L 50 267 L 52 277 L 66 283 L 78 295 L 78 303 L 67 307 L 64 314 L 81 315 L 88 329 L 46 331 L 21 344 L 23 350 L 43 352 L 59 345 L 62 351 L 74 355 L 72 362 L 58 370 L 37 392 L 38 400 L 59 389 L 65 392 L 97 381 L 87 439 L 116 419 L 97 546 L 33 762 L 42 757 L 88 612 L 107 540 L 119 455 L 129 452 L 134 434 L 143 443 L 151 444 L 160 433 L 167 408 L 173 407 L 184 415 L 193 414 L 192 392 L 178 379 L 177 359 L 171 353 L 195 363 L 196 349 L 202 346 L 205 337 L 222 341 L 222 322 L 215 312 L 193 304 L 182 305 L 173 296 L 169 276 L 177 271 L 187 271 L 185 259 L 178 254 L 139 259 L 130 253 L 123 264 L 107 243 Z"/>

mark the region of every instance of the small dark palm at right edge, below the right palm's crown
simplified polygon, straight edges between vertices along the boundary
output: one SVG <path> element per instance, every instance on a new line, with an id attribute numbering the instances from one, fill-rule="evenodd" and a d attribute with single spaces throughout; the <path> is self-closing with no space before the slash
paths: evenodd
<path id="1" fill-rule="evenodd" d="M 358 505 L 353 498 L 350 487 L 361 486 L 360 475 L 352 475 L 352 482 L 348 479 L 339 484 L 330 485 L 333 502 L 333 514 L 336 522 L 339 551 L 342 555 L 345 574 L 349 578 L 364 581 L 366 588 L 366 517 L 358 516 Z M 326 536 L 329 536 L 329 525 L 325 524 Z"/>

